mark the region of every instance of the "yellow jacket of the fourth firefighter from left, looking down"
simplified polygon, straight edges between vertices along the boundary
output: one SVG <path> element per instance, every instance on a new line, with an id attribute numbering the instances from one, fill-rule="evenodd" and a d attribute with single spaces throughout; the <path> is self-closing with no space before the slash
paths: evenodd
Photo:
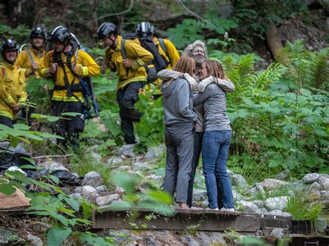
<path id="1" fill-rule="evenodd" d="M 115 64 L 117 69 L 117 74 L 119 76 L 118 89 L 123 89 L 130 82 L 143 81 L 146 82 L 147 74 L 144 68 L 144 65 L 147 62 L 153 60 L 153 55 L 146 51 L 142 46 L 137 44 L 135 40 L 126 40 L 124 44 L 124 49 L 126 51 L 127 58 L 131 62 L 131 67 L 124 67 L 121 55 L 121 36 L 117 36 L 117 47 L 115 50 L 108 47 L 106 49 L 106 59 L 105 62 L 109 66 L 109 63 L 112 62 Z"/>

